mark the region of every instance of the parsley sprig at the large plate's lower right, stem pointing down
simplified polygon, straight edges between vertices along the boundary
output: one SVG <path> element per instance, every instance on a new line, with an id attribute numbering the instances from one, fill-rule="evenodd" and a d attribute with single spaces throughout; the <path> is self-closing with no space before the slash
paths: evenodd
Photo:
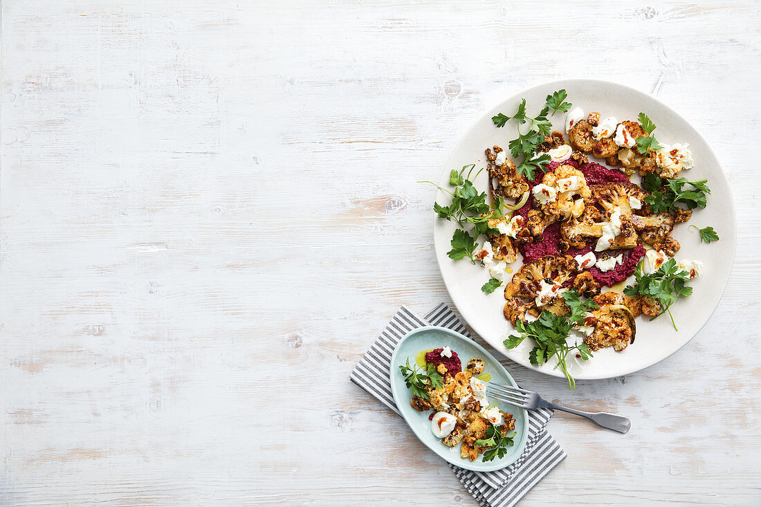
<path id="1" fill-rule="evenodd" d="M 676 260 L 669 259 L 661 264 L 655 273 L 645 275 L 642 273 L 643 262 L 644 260 L 641 260 L 634 271 L 635 285 L 627 285 L 626 289 L 623 289 L 623 293 L 630 296 L 645 295 L 657 299 L 661 303 L 661 313 L 651 317 L 650 320 L 668 312 L 673 328 L 678 331 L 669 308 L 678 298 L 693 293 L 693 288 L 686 285 L 689 282 L 689 273 L 677 266 Z"/>

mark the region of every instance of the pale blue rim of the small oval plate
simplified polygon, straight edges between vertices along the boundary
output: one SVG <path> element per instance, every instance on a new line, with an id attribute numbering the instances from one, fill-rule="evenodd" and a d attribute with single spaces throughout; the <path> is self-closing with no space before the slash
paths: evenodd
<path id="1" fill-rule="evenodd" d="M 406 333 L 406 335 L 404 335 L 402 337 L 402 339 L 399 340 L 398 343 L 396 343 L 396 348 L 393 349 L 393 353 L 391 354 L 391 359 L 390 359 L 390 363 L 389 363 L 390 364 L 390 370 L 391 370 L 391 372 L 393 372 L 395 366 L 397 366 L 394 363 L 396 362 L 396 356 L 398 356 L 398 354 L 399 354 L 399 350 L 401 348 L 400 346 L 403 343 L 403 341 L 407 340 L 407 338 L 409 338 L 410 336 L 413 336 L 413 335 L 418 334 L 418 333 L 422 333 L 424 331 L 430 331 L 430 330 L 444 331 L 444 333 L 446 333 L 448 335 L 451 335 L 451 336 L 454 336 L 458 340 L 464 340 L 464 341 L 470 343 L 470 345 L 475 346 L 476 349 L 479 350 L 479 352 L 481 352 L 484 356 L 488 357 L 493 362 L 495 362 L 497 365 L 499 365 L 500 368 L 502 368 L 502 371 L 505 372 L 505 375 L 507 375 L 507 378 L 510 381 L 512 386 L 518 387 L 517 383 L 515 382 L 515 379 L 513 378 L 512 375 L 510 375 L 510 371 L 508 371 L 508 368 L 505 368 L 505 365 L 502 365 L 501 362 L 499 362 L 499 360 L 497 358 L 495 358 L 495 356 L 492 355 L 492 353 L 490 353 L 488 350 L 484 349 L 482 346 L 480 346 L 478 343 L 476 343 L 475 340 L 472 340 L 472 339 L 470 339 L 469 337 L 467 337 L 467 336 L 465 336 L 463 334 L 457 333 L 457 331 L 451 330 L 448 327 L 441 327 L 441 326 L 416 327 L 415 329 L 409 331 L 409 333 Z M 393 373 L 390 373 L 390 375 L 393 375 Z M 398 394 L 397 391 L 396 391 L 396 383 L 391 381 L 390 384 L 391 384 L 391 396 L 393 397 L 393 402 L 396 403 L 397 407 L 399 407 L 400 406 L 400 399 L 401 399 L 401 397 L 400 397 L 400 394 Z M 402 410 L 399 410 L 399 414 L 400 414 L 400 416 L 402 416 L 402 419 L 404 419 L 405 424 L 407 426 L 409 426 L 409 430 L 412 432 L 412 434 L 415 435 L 415 437 L 423 445 L 425 445 L 425 447 L 431 449 L 431 451 L 433 451 L 439 458 L 442 458 L 444 461 L 447 461 L 447 463 L 451 463 L 451 464 L 454 464 L 454 466 L 456 466 L 456 467 L 464 468 L 465 470 L 471 470 L 471 471 L 475 471 L 475 472 L 493 472 L 495 470 L 501 470 L 501 469 L 503 469 L 505 467 L 509 467 L 511 464 L 514 464 L 518 459 L 521 458 L 521 455 L 523 455 L 524 450 L 526 448 L 526 445 L 527 445 L 527 442 L 528 442 L 528 430 L 529 430 L 528 411 L 526 409 L 524 409 L 524 408 L 521 408 L 521 407 L 515 407 L 515 409 L 516 410 L 520 410 L 523 413 L 523 415 L 524 415 L 524 426 L 525 426 L 524 432 L 523 432 L 523 436 L 521 438 L 521 442 L 516 447 L 518 449 L 516 458 L 513 461 L 510 461 L 509 463 L 503 463 L 502 461 L 498 461 L 497 463 L 495 463 L 492 466 L 486 466 L 486 464 L 484 464 L 483 461 L 480 461 L 479 463 L 483 464 L 484 465 L 483 467 L 473 467 L 473 465 L 470 464 L 470 463 L 462 464 L 459 461 L 454 462 L 454 461 L 451 461 L 450 459 L 448 459 L 447 456 L 439 454 L 438 451 L 435 448 L 432 448 L 431 445 L 428 445 L 428 442 L 425 442 L 422 438 L 420 438 L 418 436 L 417 432 L 414 429 L 412 429 L 412 424 L 409 422 L 409 420 L 404 415 Z M 476 461 L 473 461 L 472 463 L 476 463 Z"/>

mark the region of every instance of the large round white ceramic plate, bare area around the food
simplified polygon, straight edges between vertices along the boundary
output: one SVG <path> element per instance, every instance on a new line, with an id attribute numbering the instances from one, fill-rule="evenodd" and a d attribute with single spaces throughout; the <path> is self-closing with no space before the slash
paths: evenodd
<path id="1" fill-rule="evenodd" d="M 517 136 L 515 122 L 508 122 L 507 126 L 498 129 L 492 123 L 492 116 L 497 113 L 513 114 L 521 103 L 521 98 L 527 100 L 527 114 L 535 115 L 543 107 L 545 97 L 561 88 L 568 91 L 567 100 L 572 102 L 574 107 L 581 107 L 586 113 L 599 111 L 603 117 L 616 116 L 619 120 L 636 120 L 641 111 L 647 113 L 658 126 L 654 136 L 659 141 L 669 144 L 689 143 L 695 158 L 695 167 L 689 171 L 683 171 L 681 176 L 689 180 L 705 178 L 712 190 L 711 195 L 708 196 L 708 206 L 705 209 L 696 209 L 688 224 L 678 225 L 673 232 L 673 237 L 677 238 L 682 245 L 675 257 L 677 261 L 700 260 L 705 267 L 703 276 L 691 283 L 694 288 L 693 295 L 680 299 L 671 307 L 679 330 L 673 329 L 667 316 L 661 316 L 652 321 L 640 317 L 635 343 L 626 350 L 615 352 L 612 348 L 603 349 L 594 352 L 594 358 L 583 364 L 575 360 L 568 364 L 569 371 L 577 379 L 627 375 L 654 365 L 677 352 L 711 317 L 727 285 L 734 261 L 736 241 L 734 201 L 729 183 L 716 156 L 705 139 L 687 123 L 687 120 L 641 91 L 607 81 L 587 79 L 555 81 L 529 88 L 487 111 L 470 127 L 454 148 L 439 185 L 444 188 L 449 187 L 451 169 L 460 169 L 467 164 L 476 164 L 476 169 L 486 167 L 484 150 L 487 147 L 500 145 L 505 149 L 508 148 L 508 142 Z M 567 140 L 565 113 L 556 113 L 550 120 L 555 129 L 563 132 Z M 604 161 L 594 158 L 591 160 L 604 165 Z M 488 192 L 486 171 L 482 171 L 474 183 L 478 190 Z M 436 200 L 442 204 L 448 204 L 451 199 L 447 197 L 446 193 L 439 190 Z M 505 306 L 503 291 L 497 289 L 491 295 L 481 292 L 481 285 L 489 279 L 488 272 L 467 260 L 451 260 L 447 257 L 447 251 L 451 248 L 450 240 L 456 228 L 455 224 L 440 218 L 434 218 L 434 220 L 434 243 L 441 275 L 444 277 L 444 283 L 454 304 L 457 305 L 457 309 L 470 327 L 491 346 L 513 361 L 548 375 L 562 377 L 562 371 L 553 369 L 554 360 L 550 360 L 540 368 L 530 364 L 528 352 L 533 347 L 531 340 L 524 340 L 524 343 L 516 349 L 507 349 L 502 344 L 505 336 L 514 330 L 502 314 L 502 308 Z M 721 240 L 712 244 L 701 244 L 695 229 L 687 228 L 691 224 L 701 228 L 712 225 Z M 512 267 L 517 271 L 521 264 L 522 260 L 519 256 L 517 263 Z"/>

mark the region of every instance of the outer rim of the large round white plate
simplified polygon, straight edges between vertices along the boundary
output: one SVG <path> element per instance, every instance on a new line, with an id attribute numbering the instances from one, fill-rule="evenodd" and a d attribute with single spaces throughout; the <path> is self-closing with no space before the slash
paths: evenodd
<path id="1" fill-rule="evenodd" d="M 559 88 L 565 88 L 566 86 L 568 86 L 568 84 L 584 85 L 584 84 L 587 84 L 587 83 L 594 83 L 595 85 L 613 85 L 613 86 L 616 86 L 616 87 L 625 88 L 627 91 L 631 91 L 631 92 L 633 92 L 635 94 L 645 95 L 645 96 L 649 97 L 649 99 L 654 100 L 654 102 L 656 102 L 661 108 L 663 108 L 662 110 L 665 113 L 667 113 L 669 115 L 672 115 L 672 116 L 675 116 L 678 120 L 682 120 L 684 123 L 686 123 L 687 125 L 689 125 L 693 129 L 693 131 L 696 133 L 698 139 L 705 145 L 706 148 L 708 148 L 708 151 L 713 156 L 713 158 L 715 158 L 715 161 L 716 161 L 716 164 L 718 166 L 718 169 L 720 170 L 720 171 L 718 171 L 718 173 L 720 174 L 720 177 L 724 180 L 724 182 L 726 183 L 726 186 L 728 188 L 729 195 L 731 196 L 731 199 L 729 199 L 729 203 L 728 203 L 729 204 L 728 211 L 730 212 L 731 220 L 727 220 L 727 222 L 731 222 L 734 234 L 732 234 L 732 236 L 730 238 L 731 242 L 732 242 L 732 245 L 731 245 L 731 247 L 732 247 L 732 249 L 731 249 L 732 250 L 732 253 L 731 253 L 731 263 L 730 263 L 730 266 L 729 266 L 729 269 L 728 269 L 728 275 L 724 279 L 723 286 L 721 287 L 721 294 L 719 295 L 718 301 L 717 301 L 716 305 L 714 306 L 714 308 L 712 308 L 712 311 L 710 312 L 710 314 L 708 314 L 708 317 L 705 319 L 705 322 L 702 324 L 702 326 L 699 327 L 695 331 L 695 333 L 693 333 L 693 335 L 689 337 L 688 340 L 685 340 L 685 342 L 681 346 L 677 347 L 677 349 L 674 349 L 672 352 L 668 353 L 666 356 L 662 357 L 661 359 L 658 359 L 655 362 L 651 362 L 648 365 L 641 366 L 641 367 L 636 367 L 635 366 L 635 367 L 632 367 L 632 368 L 625 368 L 624 370 L 622 370 L 620 372 L 617 372 L 614 375 L 600 375 L 600 374 L 597 374 L 597 375 L 595 375 L 595 374 L 584 375 L 584 373 L 582 372 L 581 374 L 574 375 L 575 381 L 577 381 L 577 383 L 579 381 L 603 380 L 603 379 L 607 379 L 607 378 L 621 377 L 621 376 L 624 376 L 624 375 L 632 375 L 632 373 L 636 373 L 638 371 L 643 371 L 643 370 L 645 370 L 647 368 L 651 368 L 654 365 L 658 365 L 659 363 L 665 361 L 666 359 L 670 358 L 671 356 L 673 356 L 674 354 L 679 352 L 681 349 L 683 349 L 684 346 L 687 345 L 687 343 L 690 343 L 695 338 L 695 336 L 697 336 L 698 333 L 700 333 L 702 331 L 702 329 L 705 327 L 706 324 L 708 324 L 708 321 L 711 320 L 711 318 L 715 314 L 716 310 L 718 309 L 718 306 L 721 303 L 721 299 L 724 298 L 724 294 L 727 291 L 727 286 L 729 285 L 729 280 L 731 278 L 731 274 L 732 274 L 732 271 L 734 269 L 734 261 L 735 261 L 735 259 L 737 257 L 737 209 L 736 209 L 736 206 L 735 206 L 734 191 L 733 191 L 732 186 L 731 186 L 731 184 L 730 184 L 730 182 L 729 182 L 729 180 L 727 178 L 727 173 L 726 173 L 726 171 L 724 171 L 724 167 L 721 164 L 721 161 L 719 160 L 718 156 L 716 156 L 715 151 L 713 150 L 712 146 L 705 140 L 705 137 L 702 135 L 702 133 L 699 131 L 699 129 L 696 129 L 696 127 L 693 125 L 693 123 L 689 122 L 689 120 L 687 120 L 684 116 L 680 115 L 680 113 L 677 113 L 676 110 L 673 110 L 673 108 L 670 107 L 668 104 L 665 104 L 662 100 L 658 99 L 658 97 L 655 97 L 653 94 L 650 94 L 650 93 L 648 93 L 646 91 L 642 91 L 642 90 L 639 90 L 637 88 L 632 88 L 629 85 L 624 85 L 624 84 L 622 84 L 620 82 L 617 82 L 617 81 L 610 81 L 610 80 L 606 80 L 606 79 L 587 79 L 587 78 L 568 78 L 568 79 L 558 79 L 558 80 L 555 80 L 555 81 L 545 81 L 545 82 L 540 83 L 538 85 L 533 85 L 533 86 L 530 86 L 530 87 L 527 87 L 527 88 L 522 88 L 521 90 L 515 92 L 514 94 L 509 95 L 508 97 L 505 97 L 502 100 L 495 101 L 491 106 L 485 107 L 482 110 L 482 113 L 479 114 L 479 116 L 477 116 L 474 120 L 472 120 L 470 125 L 464 130 L 464 132 L 462 134 L 460 134 L 459 140 L 457 141 L 457 143 L 455 143 L 454 147 L 451 148 L 451 150 L 449 151 L 449 155 L 447 156 L 447 161 L 444 164 L 444 169 L 443 169 L 443 172 L 441 173 L 441 177 L 439 178 L 439 182 L 445 180 L 445 177 L 446 177 L 446 174 L 447 174 L 447 167 L 451 167 L 453 159 L 455 158 L 455 155 L 460 151 L 460 147 L 461 147 L 461 145 L 463 145 L 463 142 L 465 142 L 465 139 L 470 136 L 470 134 L 477 128 L 477 126 L 479 125 L 480 122 L 482 122 L 483 120 L 486 120 L 487 118 L 489 118 L 489 114 L 492 112 L 492 110 L 495 110 L 498 107 L 501 107 L 501 104 L 505 104 L 505 102 L 508 102 L 508 101 L 514 100 L 514 99 L 517 100 L 518 98 L 521 97 L 521 95 L 527 94 L 527 92 L 533 92 L 533 91 L 535 91 L 537 89 L 542 89 L 542 88 L 555 88 L 555 89 L 559 89 Z M 607 167 L 607 165 L 603 164 L 603 167 Z M 438 199 L 438 195 L 439 195 L 440 192 L 441 192 L 441 190 L 438 190 L 438 189 L 435 191 L 435 193 L 434 193 L 435 199 Z M 452 298 L 452 301 L 454 302 L 455 307 L 457 307 L 458 306 L 457 305 L 457 300 L 460 299 L 460 298 L 456 298 L 455 297 L 454 292 L 451 289 L 450 283 L 447 282 L 447 279 L 444 276 L 444 270 L 441 267 L 441 256 L 443 254 L 441 253 L 441 248 L 440 248 L 441 245 L 439 245 L 438 241 L 437 241 L 437 234 L 435 234 L 436 224 L 437 224 L 437 221 L 438 221 L 439 218 L 438 218 L 438 215 L 436 215 L 435 213 L 433 213 L 432 215 L 433 215 L 432 224 L 433 224 L 433 231 L 434 231 L 433 240 L 434 240 L 434 252 L 435 252 L 435 257 L 436 257 L 436 265 L 438 266 L 438 271 L 441 274 L 441 279 L 444 281 L 444 286 L 447 289 L 447 293 L 449 294 L 450 298 Z M 722 238 L 722 240 L 724 240 L 724 238 Z M 462 312 L 460 312 L 460 315 L 462 316 L 463 320 L 466 321 L 466 324 L 468 324 L 468 326 L 476 333 L 476 335 L 481 336 L 482 340 L 486 341 L 486 343 L 489 343 L 489 346 L 492 346 L 492 348 L 495 349 L 495 352 L 498 352 L 501 356 L 505 356 L 507 359 L 510 359 L 511 361 L 515 362 L 517 365 L 524 366 L 525 368 L 528 368 L 528 369 L 533 370 L 533 371 L 538 371 L 540 373 L 543 373 L 544 375 L 549 375 L 551 377 L 556 377 L 556 378 L 565 378 L 565 375 L 562 374 L 562 372 L 556 371 L 555 369 L 547 371 L 547 370 L 542 369 L 542 368 L 537 368 L 536 366 L 531 365 L 530 362 L 527 359 L 524 359 L 524 358 L 521 358 L 521 357 L 514 358 L 514 357 L 511 357 L 511 356 L 508 356 L 504 352 L 501 352 L 501 350 L 497 349 L 494 345 L 492 345 L 490 340 L 487 340 L 486 338 L 484 338 L 482 336 L 482 333 L 479 333 L 478 326 L 475 323 L 473 323 L 472 320 L 469 320 L 465 316 L 465 314 L 463 314 Z"/>

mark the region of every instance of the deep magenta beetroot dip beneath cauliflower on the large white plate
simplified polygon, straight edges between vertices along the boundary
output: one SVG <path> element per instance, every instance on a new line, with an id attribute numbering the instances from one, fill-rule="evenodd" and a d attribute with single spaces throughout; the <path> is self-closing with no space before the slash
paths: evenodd
<path id="1" fill-rule="evenodd" d="M 579 171 L 584 173 L 584 179 L 587 180 L 588 186 L 600 185 L 607 182 L 629 182 L 629 178 L 626 177 L 626 175 L 621 171 L 616 169 L 609 169 L 600 164 L 595 164 L 594 162 L 579 165 L 575 161 L 568 160 L 563 162 L 563 164 L 576 167 Z M 559 165 L 560 164 L 558 162 L 550 162 L 547 164 L 546 171 L 553 171 Z M 534 179 L 529 180 L 528 182 L 530 192 L 533 190 L 534 185 L 542 183 L 542 177 L 544 176 L 541 171 L 536 171 L 534 174 Z M 528 212 L 532 207 L 539 207 L 536 199 L 533 198 L 533 192 L 530 194 L 530 199 L 528 199 L 528 202 L 526 202 L 526 206 L 518 209 L 516 213 L 517 215 L 521 215 L 526 220 L 526 222 L 528 222 Z M 597 240 L 591 240 L 587 243 L 586 247 L 581 249 L 572 248 L 565 252 L 565 254 L 574 257 L 582 253 L 590 252 L 593 250 L 596 242 Z M 555 222 L 544 230 L 542 241 L 539 243 L 527 244 L 518 247 L 518 250 L 520 250 L 521 254 L 523 255 L 524 263 L 539 259 L 540 257 L 544 257 L 546 255 L 556 255 L 558 253 L 563 253 L 560 250 L 560 222 Z M 619 253 L 623 253 L 623 262 L 616 264 L 616 267 L 610 271 L 603 272 L 596 267 L 592 267 L 588 269 L 588 271 L 597 281 L 597 283 L 600 285 L 607 285 L 608 287 L 612 287 L 613 285 L 616 285 L 616 283 L 623 282 L 629 278 L 629 276 L 632 276 L 632 273 L 634 273 L 639 260 L 642 259 L 642 257 L 645 255 L 645 248 L 642 247 L 642 245 L 638 245 L 634 248 L 625 250 L 606 250 L 605 253 L 610 257 L 616 257 L 619 255 Z M 598 259 L 600 259 L 603 253 L 596 252 L 595 255 L 597 255 Z M 426 359 L 428 359 L 428 356 L 426 356 Z"/>

